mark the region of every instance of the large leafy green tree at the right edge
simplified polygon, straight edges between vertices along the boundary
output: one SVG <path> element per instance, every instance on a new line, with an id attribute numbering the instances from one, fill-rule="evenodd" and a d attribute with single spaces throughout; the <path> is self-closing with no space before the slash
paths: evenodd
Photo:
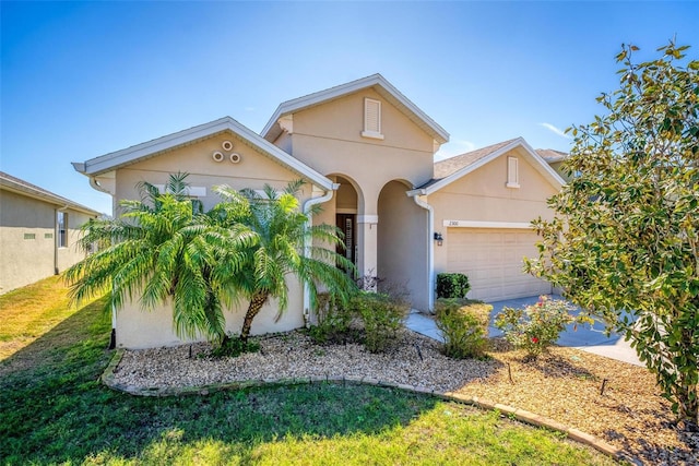
<path id="1" fill-rule="evenodd" d="M 670 43 L 637 63 L 623 46 L 620 87 L 603 116 L 571 128 L 570 181 L 536 220 L 530 272 L 623 333 L 679 419 L 699 399 L 699 61 Z"/>

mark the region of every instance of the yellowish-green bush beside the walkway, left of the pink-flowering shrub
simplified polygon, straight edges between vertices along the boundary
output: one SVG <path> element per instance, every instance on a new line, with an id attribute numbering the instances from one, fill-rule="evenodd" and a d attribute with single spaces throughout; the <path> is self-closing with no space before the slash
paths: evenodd
<path id="1" fill-rule="evenodd" d="M 435 316 L 445 337 L 445 355 L 454 359 L 482 357 L 488 345 L 491 310 L 493 306 L 482 301 L 437 300 Z"/>

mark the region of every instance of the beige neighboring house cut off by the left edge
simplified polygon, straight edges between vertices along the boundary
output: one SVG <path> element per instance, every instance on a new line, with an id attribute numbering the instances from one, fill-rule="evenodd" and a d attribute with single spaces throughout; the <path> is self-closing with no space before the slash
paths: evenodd
<path id="1" fill-rule="evenodd" d="M 80 227 L 99 213 L 0 171 L 0 294 L 81 261 Z"/>

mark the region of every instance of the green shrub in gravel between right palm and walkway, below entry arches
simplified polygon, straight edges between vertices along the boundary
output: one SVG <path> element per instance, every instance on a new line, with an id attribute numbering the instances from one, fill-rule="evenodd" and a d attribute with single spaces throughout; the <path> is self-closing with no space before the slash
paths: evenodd
<path id="1" fill-rule="evenodd" d="M 371 353 L 384 351 L 390 346 L 410 310 L 406 301 L 369 291 L 357 294 L 352 298 L 350 307 L 364 323 L 364 344 Z"/>

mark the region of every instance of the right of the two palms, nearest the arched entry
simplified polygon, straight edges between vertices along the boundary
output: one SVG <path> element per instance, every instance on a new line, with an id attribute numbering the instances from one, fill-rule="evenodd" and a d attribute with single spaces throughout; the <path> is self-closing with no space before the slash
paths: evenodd
<path id="1" fill-rule="evenodd" d="M 226 290 L 227 298 L 249 301 L 240 330 L 244 345 L 252 321 L 270 298 L 277 300 L 277 319 L 286 310 L 289 275 L 308 288 L 311 306 L 319 286 L 341 300 L 356 289 L 350 276 L 339 268 L 354 268 L 335 252 L 341 232 L 325 224 L 309 225 L 319 206 L 306 213 L 299 210 L 296 194 L 303 184 L 303 180 L 293 181 L 281 193 L 265 186 L 262 194 L 249 189 L 215 188 L 223 202 L 210 215 L 233 234 L 228 236 L 230 247 L 216 261 L 213 275 L 216 287 Z"/>

